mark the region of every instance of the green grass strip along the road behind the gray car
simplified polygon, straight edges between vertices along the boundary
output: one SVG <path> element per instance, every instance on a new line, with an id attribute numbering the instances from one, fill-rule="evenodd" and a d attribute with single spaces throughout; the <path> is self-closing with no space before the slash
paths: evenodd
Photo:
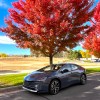
<path id="1" fill-rule="evenodd" d="M 100 68 L 87 68 L 87 74 L 100 72 Z M 23 78 L 27 75 L 24 74 L 12 74 L 12 75 L 1 75 L 0 76 L 0 88 L 17 86 L 23 84 Z"/>

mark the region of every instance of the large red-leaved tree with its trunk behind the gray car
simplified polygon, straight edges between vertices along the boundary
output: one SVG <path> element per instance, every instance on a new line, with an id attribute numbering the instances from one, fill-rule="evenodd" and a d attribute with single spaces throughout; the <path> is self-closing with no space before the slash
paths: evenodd
<path id="1" fill-rule="evenodd" d="M 18 0 L 12 3 L 7 27 L 1 28 L 21 48 L 39 50 L 50 58 L 73 48 L 88 30 L 93 0 Z"/>

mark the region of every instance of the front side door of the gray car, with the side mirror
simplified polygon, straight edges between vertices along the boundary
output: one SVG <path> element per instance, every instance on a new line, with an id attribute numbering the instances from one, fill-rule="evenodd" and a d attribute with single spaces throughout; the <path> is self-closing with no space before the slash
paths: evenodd
<path id="1" fill-rule="evenodd" d="M 69 64 L 65 64 L 59 70 L 59 77 L 61 80 L 62 87 L 66 87 L 71 82 L 71 66 Z"/>

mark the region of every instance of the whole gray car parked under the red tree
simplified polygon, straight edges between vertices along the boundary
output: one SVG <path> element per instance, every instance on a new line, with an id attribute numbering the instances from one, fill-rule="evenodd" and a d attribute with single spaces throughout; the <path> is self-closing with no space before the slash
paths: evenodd
<path id="1" fill-rule="evenodd" d="M 69 85 L 86 83 L 86 70 L 76 64 L 53 64 L 34 71 L 24 78 L 23 89 L 31 92 L 57 94 Z"/>

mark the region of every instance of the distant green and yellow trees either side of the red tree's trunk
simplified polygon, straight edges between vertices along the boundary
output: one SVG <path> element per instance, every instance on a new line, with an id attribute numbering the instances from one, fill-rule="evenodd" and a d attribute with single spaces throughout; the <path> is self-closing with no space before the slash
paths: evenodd
<path id="1" fill-rule="evenodd" d="M 39 51 L 32 51 L 31 50 L 31 56 L 34 56 L 34 57 L 45 57 L 45 55 L 41 54 L 41 52 Z M 83 51 L 83 50 L 68 50 L 68 51 L 62 51 L 60 53 L 57 53 L 54 57 L 56 58 L 68 58 L 68 59 L 71 59 L 71 60 L 79 60 L 80 58 L 90 58 L 91 57 L 91 54 L 88 50 L 86 51 Z"/>

